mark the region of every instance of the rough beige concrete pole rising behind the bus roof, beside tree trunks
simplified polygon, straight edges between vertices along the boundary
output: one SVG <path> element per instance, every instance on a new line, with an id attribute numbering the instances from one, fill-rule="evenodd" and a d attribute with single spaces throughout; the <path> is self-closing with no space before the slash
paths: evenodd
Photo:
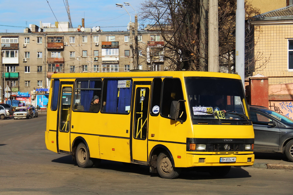
<path id="1" fill-rule="evenodd" d="M 209 0 L 208 71 L 219 72 L 218 0 Z"/>

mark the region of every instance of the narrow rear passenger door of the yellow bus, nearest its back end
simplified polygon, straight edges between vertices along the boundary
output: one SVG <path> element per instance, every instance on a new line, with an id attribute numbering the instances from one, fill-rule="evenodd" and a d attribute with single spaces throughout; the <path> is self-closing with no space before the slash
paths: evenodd
<path id="1" fill-rule="evenodd" d="M 70 153 L 70 119 L 71 119 L 71 100 L 72 84 L 62 84 L 59 105 L 59 127 L 58 127 L 58 151 Z"/>

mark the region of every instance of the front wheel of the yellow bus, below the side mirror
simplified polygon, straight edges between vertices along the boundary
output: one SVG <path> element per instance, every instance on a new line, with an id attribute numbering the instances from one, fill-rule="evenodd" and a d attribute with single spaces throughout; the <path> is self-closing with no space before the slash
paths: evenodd
<path id="1" fill-rule="evenodd" d="M 173 167 L 172 159 L 167 152 L 160 153 L 157 158 L 157 170 L 165 179 L 175 179 L 179 176 L 181 168 Z"/>

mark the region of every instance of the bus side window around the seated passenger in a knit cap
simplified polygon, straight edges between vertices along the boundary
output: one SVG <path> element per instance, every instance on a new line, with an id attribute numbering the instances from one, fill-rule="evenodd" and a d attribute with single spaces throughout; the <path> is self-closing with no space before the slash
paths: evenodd
<path id="1" fill-rule="evenodd" d="M 101 96 L 101 80 L 76 80 L 74 92 L 73 110 L 78 112 L 98 112 L 95 109 L 90 111 L 94 96 Z"/>

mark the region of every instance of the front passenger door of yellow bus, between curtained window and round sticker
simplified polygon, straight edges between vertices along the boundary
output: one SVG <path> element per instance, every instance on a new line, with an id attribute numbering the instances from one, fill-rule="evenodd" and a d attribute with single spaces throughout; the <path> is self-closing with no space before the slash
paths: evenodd
<path id="1" fill-rule="evenodd" d="M 135 84 L 134 89 L 131 160 L 146 164 L 150 85 Z"/>

